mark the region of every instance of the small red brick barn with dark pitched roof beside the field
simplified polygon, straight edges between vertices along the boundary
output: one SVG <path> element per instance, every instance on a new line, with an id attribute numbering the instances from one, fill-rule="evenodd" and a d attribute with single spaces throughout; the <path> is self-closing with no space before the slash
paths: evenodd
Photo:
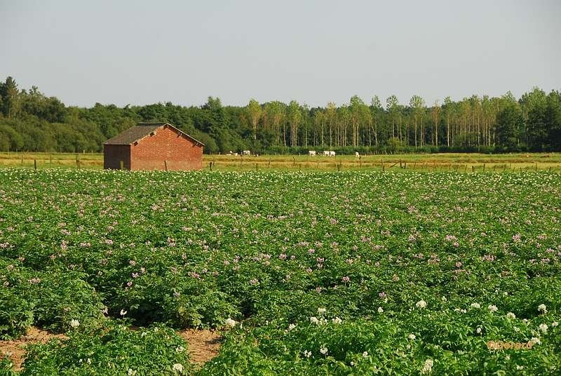
<path id="1" fill-rule="evenodd" d="M 201 170 L 203 143 L 170 123 L 139 123 L 103 144 L 103 168 Z"/>

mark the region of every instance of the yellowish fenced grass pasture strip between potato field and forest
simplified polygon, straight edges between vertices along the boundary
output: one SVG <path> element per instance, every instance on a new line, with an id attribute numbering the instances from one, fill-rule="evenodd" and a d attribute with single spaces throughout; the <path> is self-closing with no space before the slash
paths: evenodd
<path id="1" fill-rule="evenodd" d="M 229 156 L 204 155 L 203 168 L 210 170 L 454 170 L 561 171 L 561 154 L 393 154 L 355 156 Z M 102 169 L 98 153 L 0 153 L 0 167 Z"/>

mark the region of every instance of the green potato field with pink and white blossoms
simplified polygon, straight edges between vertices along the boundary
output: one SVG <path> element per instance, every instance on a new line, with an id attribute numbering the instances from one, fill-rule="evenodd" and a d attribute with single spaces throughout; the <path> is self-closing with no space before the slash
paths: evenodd
<path id="1" fill-rule="evenodd" d="M 0 170 L 0 375 L 561 373 L 561 175 Z M 182 328 L 221 335 L 189 359 Z"/>

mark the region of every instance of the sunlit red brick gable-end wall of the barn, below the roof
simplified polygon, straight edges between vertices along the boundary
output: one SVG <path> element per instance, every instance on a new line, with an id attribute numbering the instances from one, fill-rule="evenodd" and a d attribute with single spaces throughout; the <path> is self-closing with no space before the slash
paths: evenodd
<path id="1" fill-rule="evenodd" d="M 201 170 L 203 147 L 165 126 L 131 145 L 131 170 Z"/>

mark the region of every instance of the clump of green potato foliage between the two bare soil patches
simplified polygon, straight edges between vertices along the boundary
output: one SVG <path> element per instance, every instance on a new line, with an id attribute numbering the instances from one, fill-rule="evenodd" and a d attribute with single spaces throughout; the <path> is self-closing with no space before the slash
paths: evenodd
<path id="1" fill-rule="evenodd" d="M 182 375 L 191 373 L 187 343 L 170 328 L 130 330 L 109 325 L 71 330 L 68 340 L 50 340 L 27 348 L 24 375 Z M 177 366 L 176 366 L 177 367 Z"/>

